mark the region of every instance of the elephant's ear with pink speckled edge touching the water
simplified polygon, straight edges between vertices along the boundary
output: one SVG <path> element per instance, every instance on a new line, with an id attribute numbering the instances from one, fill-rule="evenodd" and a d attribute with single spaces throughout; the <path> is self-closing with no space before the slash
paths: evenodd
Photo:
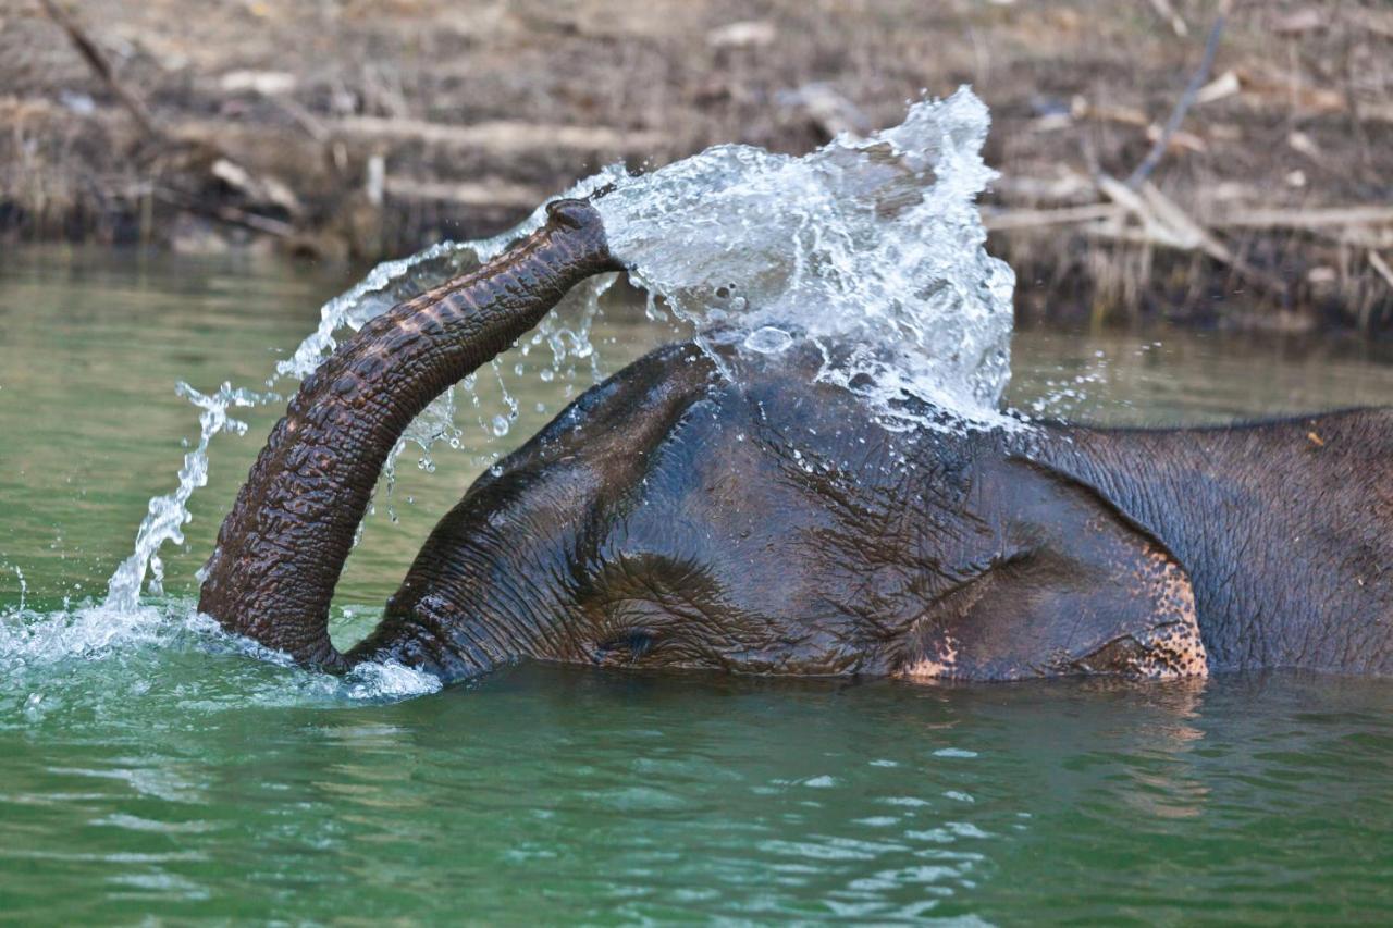
<path id="1" fill-rule="evenodd" d="M 975 492 L 997 550 L 915 620 L 901 676 L 1206 674 L 1190 577 L 1159 541 L 1031 463 L 993 464 Z"/>

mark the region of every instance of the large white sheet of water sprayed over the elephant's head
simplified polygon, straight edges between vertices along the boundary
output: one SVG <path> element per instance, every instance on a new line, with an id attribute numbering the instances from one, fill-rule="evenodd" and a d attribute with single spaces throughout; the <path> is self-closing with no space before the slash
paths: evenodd
<path id="1" fill-rule="evenodd" d="M 986 254 L 976 195 L 986 106 L 967 88 L 900 125 L 802 157 L 722 145 L 596 202 L 610 248 L 709 340 L 777 353 L 814 340 L 819 379 L 886 424 L 918 397 L 974 424 L 1010 378 L 1015 277 Z"/>

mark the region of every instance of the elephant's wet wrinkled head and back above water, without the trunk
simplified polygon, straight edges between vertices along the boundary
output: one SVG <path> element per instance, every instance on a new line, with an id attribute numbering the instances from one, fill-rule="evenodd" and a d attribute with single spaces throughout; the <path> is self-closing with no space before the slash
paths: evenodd
<path id="1" fill-rule="evenodd" d="M 1393 670 L 1389 411 L 890 432 L 811 385 L 812 364 L 745 359 L 733 385 L 677 346 L 595 387 L 442 520 L 352 656 L 450 679 L 517 656 L 949 679 Z M 1148 665 L 1177 617 L 1119 580 L 1133 557 L 1178 564 L 1205 665 Z M 931 641 L 944 630 L 954 660 Z"/>

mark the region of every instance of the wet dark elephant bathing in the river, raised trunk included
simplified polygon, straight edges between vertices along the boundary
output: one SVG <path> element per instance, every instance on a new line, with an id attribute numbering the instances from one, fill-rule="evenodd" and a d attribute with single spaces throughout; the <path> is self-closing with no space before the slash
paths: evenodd
<path id="1" fill-rule="evenodd" d="M 206 564 L 201 612 L 305 666 L 446 681 L 522 659 L 887 676 L 1393 672 L 1393 410 L 1222 428 L 887 429 L 804 346 L 671 344 L 589 389 L 433 529 L 340 652 L 334 584 L 387 454 L 581 279 L 586 201 L 403 302 L 301 385 Z M 907 403 L 911 400 L 907 400 Z"/>

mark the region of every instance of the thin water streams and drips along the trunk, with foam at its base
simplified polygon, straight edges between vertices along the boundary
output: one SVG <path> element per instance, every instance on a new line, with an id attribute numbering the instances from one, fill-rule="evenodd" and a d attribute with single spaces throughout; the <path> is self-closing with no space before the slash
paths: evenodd
<path id="1" fill-rule="evenodd" d="M 621 169 L 609 167 L 563 192 L 561 196 L 586 196 L 621 176 Z M 238 654 L 251 654 L 270 663 L 284 665 L 286 673 L 297 680 L 322 679 L 312 686 L 297 684 L 302 688 L 308 686 L 318 695 L 327 693 L 350 699 L 378 699 L 439 690 L 440 681 L 436 677 L 401 665 L 365 663 L 343 679 L 325 677 L 293 667 L 283 656 L 267 652 L 254 642 L 231 640 L 215 621 L 201 616 L 192 602 L 164 595 L 164 566 L 160 552 L 167 543 L 184 543 L 184 527 L 191 520 L 188 503 L 194 493 L 208 484 L 209 449 L 215 436 L 223 432 L 235 435 L 247 432 L 247 424 L 233 417 L 234 410 L 279 407 L 286 401 L 286 394 L 293 392 L 294 382 L 308 376 L 333 353 L 343 332 L 361 329 L 396 304 L 472 270 L 507 248 L 510 242 L 532 233 L 545 219 L 543 205 L 515 229 L 493 238 L 442 242 L 410 258 L 376 266 L 355 287 L 323 305 L 315 332 L 306 336 L 286 359 L 277 362 L 274 371 L 265 379 L 263 389 L 233 387 L 230 383 L 223 383 L 212 393 L 202 393 L 187 383 L 178 383 L 176 387 L 178 396 L 199 411 L 199 436 L 184 456 L 177 485 L 171 492 L 149 502 L 145 518 L 137 529 L 132 552 L 109 578 L 107 594 L 102 602 L 75 606 L 68 606 L 65 602 L 60 610 L 35 612 L 26 606 L 28 591 L 24 575 L 18 567 L 14 569 L 21 584 L 21 599 L 17 608 L 0 614 L 0 672 L 15 679 L 26 669 L 52 669 L 72 660 L 130 660 L 134 659 L 132 655 L 149 649 L 230 648 Z M 589 343 L 589 326 L 599 311 L 599 295 L 613 281 L 614 274 L 607 274 L 575 288 L 563 301 L 559 312 L 547 316 L 524 343 L 524 355 L 536 346 L 546 344 L 550 348 L 549 361 L 543 361 L 542 366 L 545 379 L 568 373 L 570 368 L 566 365 L 577 359 L 584 359 L 586 373 L 592 379 L 599 379 L 600 368 Z M 486 440 L 490 442 L 506 435 L 517 418 L 517 401 L 507 392 L 501 368 L 495 365 L 495 369 L 503 390 L 503 408 L 496 415 L 483 408 L 472 385 L 467 386 L 472 394 L 468 408 L 478 414 Z M 546 378 L 546 373 L 552 376 Z M 454 392 L 447 392 L 411 424 L 398 442 L 386 470 L 389 513 L 396 463 L 403 453 L 407 453 L 410 444 L 419 449 L 418 464 L 425 470 L 433 468 L 430 453 L 439 442 L 447 442 L 453 449 L 465 447 L 462 429 L 456 424 L 460 408 Z M 486 415 L 490 418 L 488 424 L 485 424 Z M 490 460 L 492 457 L 496 456 L 490 456 Z M 202 580 L 202 571 L 198 578 Z M 53 701 L 50 699 L 47 705 L 53 705 Z"/>

